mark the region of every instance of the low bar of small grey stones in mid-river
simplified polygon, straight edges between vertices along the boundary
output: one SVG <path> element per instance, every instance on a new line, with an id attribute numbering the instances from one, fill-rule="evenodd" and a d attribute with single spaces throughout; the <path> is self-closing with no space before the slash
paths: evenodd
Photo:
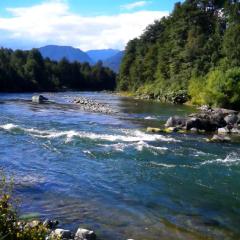
<path id="1" fill-rule="evenodd" d="M 85 97 L 76 97 L 73 100 L 74 104 L 78 104 L 84 111 L 99 112 L 105 114 L 116 113 L 109 105 L 99 103 Z"/>

